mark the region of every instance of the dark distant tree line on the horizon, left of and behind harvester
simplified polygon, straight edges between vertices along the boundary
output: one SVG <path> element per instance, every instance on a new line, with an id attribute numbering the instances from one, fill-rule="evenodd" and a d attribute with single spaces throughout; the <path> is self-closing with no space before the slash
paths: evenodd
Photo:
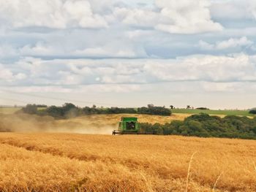
<path id="1" fill-rule="evenodd" d="M 45 109 L 39 109 L 36 104 L 27 104 L 23 107 L 21 112 L 34 115 L 49 115 L 53 118 L 75 118 L 81 115 L 94 114 L 146 114 L 146 115 L 171 115 L 171 110 L 165 107 L 156 107 L 153 104 L 148 104 L 148 107 L 139 108 L 122 108 L 122 107 L 77 107 L 75 104 L 66 103 L 61 107 L 50 106 Z"/>

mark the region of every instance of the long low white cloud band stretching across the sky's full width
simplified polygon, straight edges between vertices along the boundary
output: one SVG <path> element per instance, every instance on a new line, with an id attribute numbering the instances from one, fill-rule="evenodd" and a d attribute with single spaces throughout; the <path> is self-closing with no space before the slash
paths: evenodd
<path id="1" fill-rule="evenodd" d="M 141 84 L 158 82 L 246 82 L 256 81 L 256 56 L 194 55 L 176 60 L 103 59 L 50 60 L 24 58 L 1 66 L 1 77 L 40 85 Z M 15 71 L 15 73 L 14 73 Z M 20 74 L 23 73 L 23 74 Z"/>

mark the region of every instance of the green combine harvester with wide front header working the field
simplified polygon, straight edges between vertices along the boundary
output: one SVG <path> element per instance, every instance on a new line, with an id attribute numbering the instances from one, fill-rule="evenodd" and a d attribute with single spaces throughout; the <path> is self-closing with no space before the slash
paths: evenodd
<path id="1" fill-rule="evenodd" d="M 157 134 L 157 133 L 141 131 L 140 123 L 138 123 L 138 118 L 121 118 L 121 121 L 119 122 L 118 130 L 114 130 L 112 134 L 116 135 L 116 134 Z"/>

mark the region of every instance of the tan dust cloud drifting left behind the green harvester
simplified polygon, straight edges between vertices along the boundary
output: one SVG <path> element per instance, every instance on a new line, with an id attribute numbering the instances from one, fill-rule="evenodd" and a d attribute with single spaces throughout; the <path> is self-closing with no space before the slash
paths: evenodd
<path id="1" fill-rule="evenodd" d="M 55 120 L 50 116 L 0 114 L 0 132 L 57 132 L 75 134 L 112 134 L 116 123 L 97 122 L 91 118 Z"/>

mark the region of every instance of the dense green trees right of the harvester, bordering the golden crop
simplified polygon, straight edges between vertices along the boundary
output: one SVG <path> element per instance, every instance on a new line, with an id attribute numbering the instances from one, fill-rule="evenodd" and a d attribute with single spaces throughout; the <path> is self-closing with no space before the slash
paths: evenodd
<path id="1" fill-rule="evenodd" d="M 202 113 L 165 125 L 141 123 L 140 126 L 141 131 L 164 135 L 256 139 L 256 118 L 233 115 L 219 118 Z"/>

